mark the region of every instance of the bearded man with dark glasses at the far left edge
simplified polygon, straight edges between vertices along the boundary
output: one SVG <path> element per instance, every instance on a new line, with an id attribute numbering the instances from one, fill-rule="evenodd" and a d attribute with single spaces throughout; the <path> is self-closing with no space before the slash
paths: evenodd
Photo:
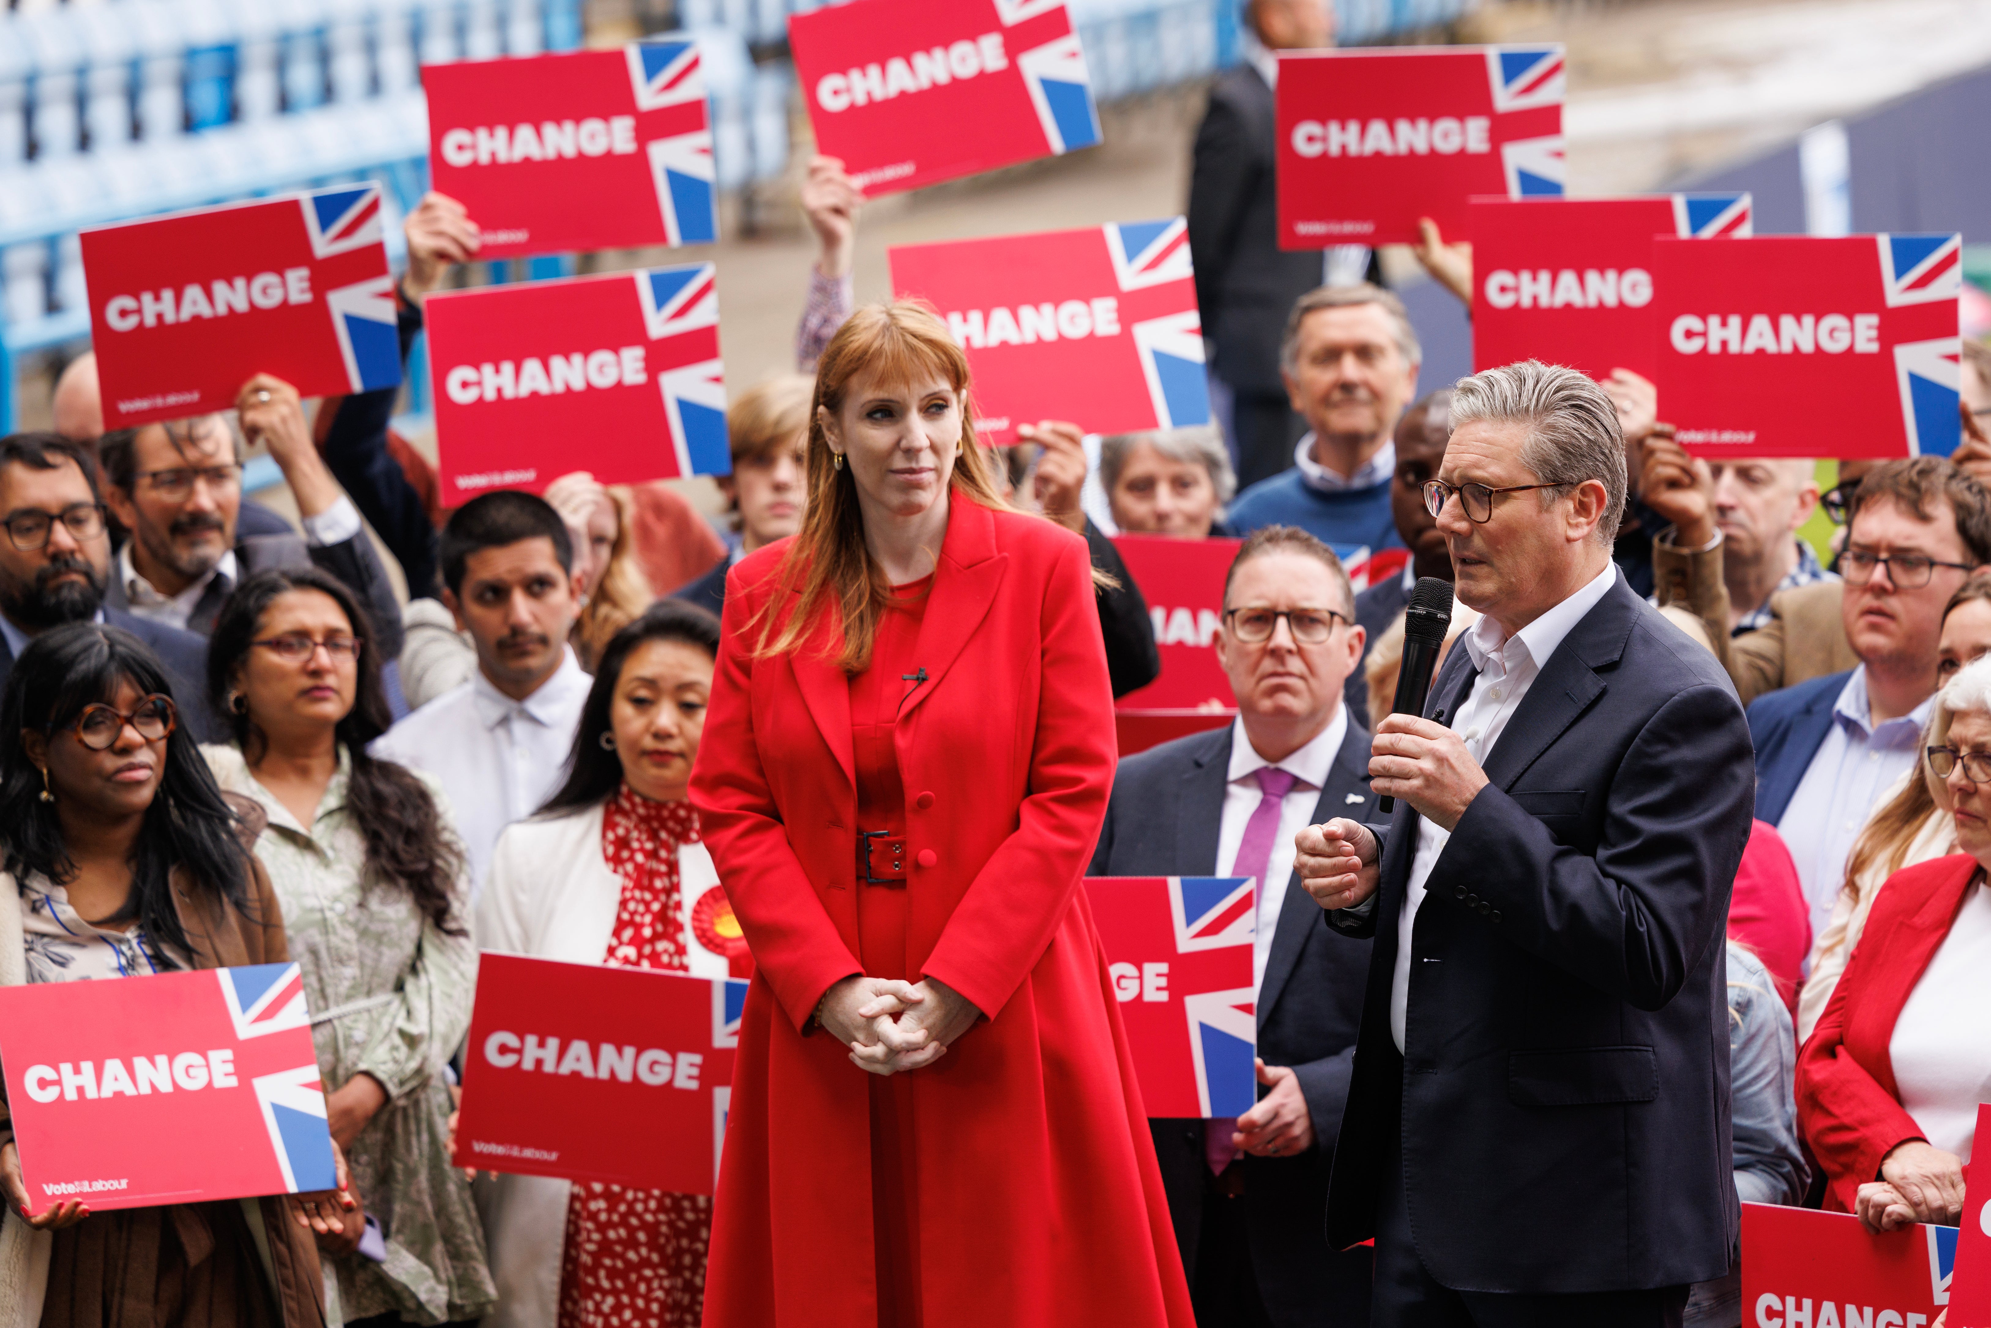
<path id="1" fill-rule="evenodd" d="M 159 657 L 195 737 L 227 737 L 203 703 L 207 641 L 104 603 L 111 546 L 86 450 L 58 434 L 0 438 L 0 687 L 28 641 L 50 627 L 108 623 Z"/>

